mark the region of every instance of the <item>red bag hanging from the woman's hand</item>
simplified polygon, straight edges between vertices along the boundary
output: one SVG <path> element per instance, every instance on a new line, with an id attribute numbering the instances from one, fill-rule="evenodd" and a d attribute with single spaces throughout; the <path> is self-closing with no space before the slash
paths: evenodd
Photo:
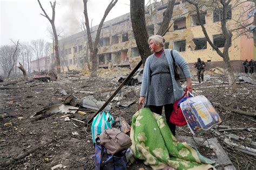
<path id="1" fill-rule="evenodd" d="M 187 124 L 186 119 L 182 113 L 181 108 L 178 106 L 178 103 L 180 100 L 183 99 L 183 97 L 185 97 L 185 95 L 187 94 L 187 92 L 184 93 L 184 95 L 173 104 L 173 110 L 172 110 L 172 114 L 170 116 L 170 122 L 173 124 L 176 124 L 178 126 L 184 126 Z M 187 94 L 187 98 L 188 98 L 188 94 Z"/>

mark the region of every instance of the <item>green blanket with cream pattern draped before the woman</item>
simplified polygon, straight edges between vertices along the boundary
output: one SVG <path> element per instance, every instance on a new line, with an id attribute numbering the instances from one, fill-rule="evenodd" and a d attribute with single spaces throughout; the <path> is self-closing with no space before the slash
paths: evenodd
<path id="1" fill-rule="evenodd" d="M 215 161 L 205 158 L 187 143 L 180 143 L 171 133 L 163 116 L 149 108 L 140 109 L 132 117 L 132 151 L 153 169 L 171 166 L 176 169 L 208 169 Z"/>

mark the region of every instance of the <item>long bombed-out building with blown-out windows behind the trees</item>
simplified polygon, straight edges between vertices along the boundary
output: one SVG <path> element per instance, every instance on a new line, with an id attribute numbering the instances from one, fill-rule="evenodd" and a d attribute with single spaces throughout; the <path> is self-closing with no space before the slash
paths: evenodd
<path id="1" fill-rule="evenodd" d="M 250 2 L 248 2 L 250 3 Z M 244 3 L 244 5 L 248 5 Z M 163 20 L 163 13 L 167 8 L 167 1 L 153 3 L 145 7 L 146 29 L 151 34 L 156 34 Z M 193 65 L 200 57 L 207 62 L 207 68 L 223 67 L 223 59 L 214 51 L 207 42 L 196 13 L 190 12 L 191 6 L 184 0 L 177 1 L 174 5 L 170 29 L 165 34 L 165 48 L 173 48 L 184 56 L 187 62 Z M 238 10 L 228 9 L 228 23 L 232 17 L 239 15 Z M 213 44 L 223 51 L 225 37 L 221 34 L 221 10 L 205 10 L 201 13 L 201 22 L 205 25 L 208 36 Z M 98 26 L 91 29 L 92 40 L 95 40 Z M 231 47 L 229 48 L 231 65 L 238 72 L 241 71 L 241 60 L 253 58 L 253 39 L 233 33 Z M 94 44 L 94 43 L 93 43 Z M 62 71 L 69 69 L 83 69 L 90 63 L 89 49 L 87 46 L 86 32 L 81 31 L 68 38 L 59 40 L 60 65 Z M 51 62 L 54 62 L 54 53 L 51 48 Z M 136 46 L 132 31 L 130 13 L 104 22 L 98 44 L 97 61 L 99 67 L 112 66 L 133 68 L 140 61 L 139 51 Z"/>

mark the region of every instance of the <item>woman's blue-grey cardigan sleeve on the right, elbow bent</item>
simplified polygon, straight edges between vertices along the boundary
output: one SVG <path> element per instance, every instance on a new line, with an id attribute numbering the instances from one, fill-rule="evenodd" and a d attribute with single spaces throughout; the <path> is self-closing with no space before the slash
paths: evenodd
<path id="1" fill-rule="evenodd" d="M 188 63 L 186 60 L 177 52 L 176 50 L 173 49 L 173 57 L 177 65 L 183 70 L 183 73 L 186 78 L 191 77 L 190 75 L 190 67 L 188 66 Z"/>

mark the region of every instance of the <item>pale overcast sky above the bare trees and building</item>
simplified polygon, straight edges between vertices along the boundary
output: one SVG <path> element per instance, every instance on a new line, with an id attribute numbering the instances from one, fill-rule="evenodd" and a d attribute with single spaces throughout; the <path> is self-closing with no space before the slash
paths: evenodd
<path id="1" fill-rule="evenodd" d="M 53 1 L 53 0 L 52 0 Z M 51 18 L 49 0 L 41 0 L 43 8 Z M 92 25 L 98 25 L 110 0 L 88 0 L 87 9 Z M 80 30 L 83 17 L 83 0 L 57 0 L 55 24 L 61 36 L 69 36 Z M 105 21 L 130 12 L 130 0 L 119 0 L 110 11 Z M 37 0 L 0 0 L 0 46 L 10 44 L 11 39 L 22 42 L 36 39 L 51 41 L 47 28 L 48 19 Z M 50 27 L 51 29 L 51 27 Z"/>

